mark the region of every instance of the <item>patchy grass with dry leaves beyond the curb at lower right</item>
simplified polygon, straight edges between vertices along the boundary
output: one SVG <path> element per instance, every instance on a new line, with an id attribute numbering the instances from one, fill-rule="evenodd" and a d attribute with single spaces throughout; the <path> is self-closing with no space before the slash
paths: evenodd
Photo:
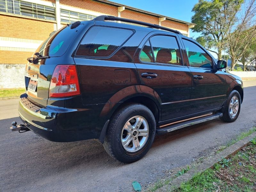
<path id="1" fill-rule="evenodd" d="M 223 166 L 223 164 L 226 164 Z M 251 143 L 244 150 L 222 159 L 207 169 L 197 173 L 193 178 L 174 189 L 175 192 L 189 191 L 256 191 L 256 145 Z"/>

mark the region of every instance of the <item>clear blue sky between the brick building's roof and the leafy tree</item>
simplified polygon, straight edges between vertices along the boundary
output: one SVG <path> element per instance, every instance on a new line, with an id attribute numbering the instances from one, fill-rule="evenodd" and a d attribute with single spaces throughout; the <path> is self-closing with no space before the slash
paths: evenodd
<path id="1" fill-rule="evenodd" d="M 191 11 L 198 0 L 110 0 L 112 2 L 135 7 L 145 11 L 157 13 L 174 19 L 191 22 L 194 13 Z M 200 33 L 193 33 L 190 29 L 190 37 L 196 38 Z"/>

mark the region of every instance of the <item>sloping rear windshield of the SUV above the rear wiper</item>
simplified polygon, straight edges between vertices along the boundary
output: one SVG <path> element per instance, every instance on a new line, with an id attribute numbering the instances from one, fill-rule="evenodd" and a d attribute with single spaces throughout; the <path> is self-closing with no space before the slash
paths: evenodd
<path id="1" fill-rule="evenodd" d="M 76 28 L 71 29 L 71 25 L 60 29 L 56 33 L 52 34 L 48 37 L 40 45 L 39 52 L 43 56 L 50 56 L 50 57 L 59 57 L 63 55 L 67 49 L 70 43 L 75 38 L 78 31 L 84 26 L 84 24 L 80 24 Z"/>

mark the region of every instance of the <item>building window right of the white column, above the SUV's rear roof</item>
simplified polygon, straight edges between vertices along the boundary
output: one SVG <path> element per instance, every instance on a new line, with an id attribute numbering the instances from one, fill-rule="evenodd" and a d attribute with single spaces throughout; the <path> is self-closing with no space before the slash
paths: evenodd
<path id="1" fill-rule="evenodd" d="M 88 21 L 96 16 L 60 9 L 61 22 L 73 23 L 75 21 Z"/>

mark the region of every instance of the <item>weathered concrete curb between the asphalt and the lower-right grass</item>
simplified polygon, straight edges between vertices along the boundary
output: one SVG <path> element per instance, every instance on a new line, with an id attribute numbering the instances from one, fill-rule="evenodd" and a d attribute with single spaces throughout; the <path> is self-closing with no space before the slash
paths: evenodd
<path id="1" fill-rule="evenodd" d="M 210 159 L 205 158 L 201 164 L 196 165 L 195 168 L 190 169 L 187 173 L 175 178 L 172 180 L 169 185 L 163 186 L 159 189 L 157 189 L 157 192 L 167 192 L 170 191 L 174 187 L 179 187 L 182 182 L 186 182 L 190 180 L 193 175 L 196 173 L 204 172 L 208 168 L 213 168 L 214 164 L 219 163 L 219 160 L 221 158 L 228 158 L 231 155 L 236 154 L 239 150 L 241 150 L 243 147 L 247 146 L 250 143 L 250 140 L 252 138 L 256 137 L 256 132 L 252 133 L 248 137 L 245 137 L 244 139 L 237 141 L 235 144 L 229 146 L 228 148 L 224 149 L 220 153 L 212 156 Z"/>

